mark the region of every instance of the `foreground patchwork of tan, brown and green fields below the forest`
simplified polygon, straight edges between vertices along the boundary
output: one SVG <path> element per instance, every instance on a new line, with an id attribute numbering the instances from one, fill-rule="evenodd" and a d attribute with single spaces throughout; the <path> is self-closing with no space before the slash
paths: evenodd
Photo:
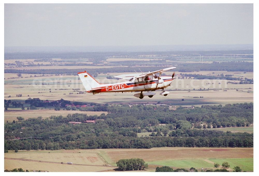
<path id="1" fill-rule="evenodd" d="M 230 163 L 229 170 L 232 170 L 234 166 L 240 166 L 243 171 L 253 171 L 253 148 L 161 147 L 152 149 L 18 151 L 18 153 L 9 151 L 9 153 L 4 154 L 4 157 L 4 169 L 21 167 L 28 170 L 50 172 L 112 171 L 113 168 L 116 168 L 115 163 L 119 159 L 126 158 L 144 159 L 146 163 L 150 164 L 148 169 L 150 172 L 154 172 L 156 166 L 163 165 L 171 166 L 174 169 L 189 169 L 190 167 L 196 167 L 199 170 L 202 167 L 208 169 L 213 168 L 214 162 L 221 164 L 224 161 Z M 73 162 L 73 165 L 60 164 L 61 161 Z"/>

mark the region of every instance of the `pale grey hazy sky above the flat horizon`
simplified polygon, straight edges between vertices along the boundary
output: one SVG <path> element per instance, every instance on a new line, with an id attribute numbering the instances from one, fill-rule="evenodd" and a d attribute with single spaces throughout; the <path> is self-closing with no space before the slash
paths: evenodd
<path id="1" fill-rule="evenodd" d="M 253 44 L 253 4 L 5 4 L 4 44 Z"/>

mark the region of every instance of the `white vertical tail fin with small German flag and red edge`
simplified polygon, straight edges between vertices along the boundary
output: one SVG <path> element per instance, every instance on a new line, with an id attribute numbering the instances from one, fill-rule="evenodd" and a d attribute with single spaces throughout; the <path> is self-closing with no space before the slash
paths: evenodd
<path id="1" fill-rule="evenodd" d="M 100 87 L 100 84 L 86 71 L 77 73 L 81 79 L 85 90 L 91 90 Z"/>

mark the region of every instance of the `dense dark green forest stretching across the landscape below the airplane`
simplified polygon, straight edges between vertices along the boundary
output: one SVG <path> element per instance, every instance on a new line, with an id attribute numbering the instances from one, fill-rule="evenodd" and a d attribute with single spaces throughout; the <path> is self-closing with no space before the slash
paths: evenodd
<path id="1" fill-rule="evenodd" d="M 204 125 L 207 128 L 210 125 L 212 128 L 250 125 L 253 123 L 253 103 L 203 105 L 193 109 L 179 107 L 176 110 L 170 110 L 169 105 L 96 104 L 94 107 L 109 113 L 17 118 L 17 121 L 5 123 L 5 152 L 16 149 L 253 147 L 253 133 L 199 129 L 202 125 L 203 128 Z M 96 120 L 96 123 L 68 123 L 86 120 Z M 165 125 L 159 125 L 161 123 Z M 137 137 L 139 132 L 156 132 L 156 135 Z M 9 140 L 15 138 L 28 139 Z"/>

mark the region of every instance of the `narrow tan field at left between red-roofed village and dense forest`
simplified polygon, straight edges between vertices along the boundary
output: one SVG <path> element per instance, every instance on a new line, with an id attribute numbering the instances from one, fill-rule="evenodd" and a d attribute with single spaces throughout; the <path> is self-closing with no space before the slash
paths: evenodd
<path id="1" fill-rule="evenodd" d="M 4 111 L 4 122 L 6 121 L 13 121 L 17 120 L 16 117 L 23 117 L 24 119 L 28 118 L 36 118 L 41 116 L 42 118 L 47 118 L 50 116 L 67 116 L 68 114 L 74 114 L 74 113 L 82 113 L 89 115 L 101 115 L 102 113 L 107 114 L 106 111 L 67 111 L 67 110 L 60 110 L 55 111 L 54 109 L 38 109 L 38 110 L 7 110 Z"/>

